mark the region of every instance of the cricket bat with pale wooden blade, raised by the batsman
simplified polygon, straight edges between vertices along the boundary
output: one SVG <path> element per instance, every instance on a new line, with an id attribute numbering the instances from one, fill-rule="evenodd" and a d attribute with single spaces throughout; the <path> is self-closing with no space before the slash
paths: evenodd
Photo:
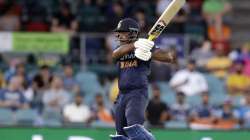
<path id="1" fill-rule="evenodd" d="M 148 32 L 148 40 L 153 41 L 162 33 L 173 17 L 183 7 L 185 2 L 186 0 L 172 0 L 166 10 L 161 14 L 154 26 Z"/>

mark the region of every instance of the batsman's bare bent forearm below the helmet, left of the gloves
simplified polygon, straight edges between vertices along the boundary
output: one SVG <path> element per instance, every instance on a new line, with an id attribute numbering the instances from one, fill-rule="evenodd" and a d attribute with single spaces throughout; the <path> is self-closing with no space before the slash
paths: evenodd
<path id="1" fill-rule="evenodd" d="M 119 48 L 115 49 L 112 53 L 112 58 L 113 59 L 118 59 L 125 54 L 128 54 L 132 51 L 134 51 L 135 47 L 133 44 L 126 44 L 126 45 L 121 45 Z"/>

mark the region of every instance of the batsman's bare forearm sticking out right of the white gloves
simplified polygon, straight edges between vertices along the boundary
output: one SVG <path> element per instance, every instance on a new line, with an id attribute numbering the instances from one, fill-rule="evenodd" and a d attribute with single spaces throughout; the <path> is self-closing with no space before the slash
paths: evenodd
<path id="1" fill-rule="evenodd" d="M 176 63 L 176 52 L 157 49 L 153 52 L 152 58 L 161 62 Z"/>

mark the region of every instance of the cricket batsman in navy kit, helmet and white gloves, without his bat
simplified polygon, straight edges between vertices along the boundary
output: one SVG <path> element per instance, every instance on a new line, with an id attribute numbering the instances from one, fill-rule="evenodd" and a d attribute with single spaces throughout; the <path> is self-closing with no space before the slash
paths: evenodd
<path id="1" fill-rule="evenodd" d="M 148 76 L 151 60 L 174 63 L 176 54 L 157 48 L 153 41 L 139 38 L 138 23 L 126 18 L 116 29 L 119 46 L 113 51 L 119 69 L 119 94 L 114 104 L 116 135 L 112 140 L 155 140 L 143 127 L 148 104 Z"/>

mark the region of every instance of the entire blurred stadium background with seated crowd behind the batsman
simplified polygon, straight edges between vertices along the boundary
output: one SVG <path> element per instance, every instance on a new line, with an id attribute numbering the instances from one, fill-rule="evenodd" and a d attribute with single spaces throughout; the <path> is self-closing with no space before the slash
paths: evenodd
<path id="1" fill-rule="evenodd" d="M 112 30 L 131 17 L 146 36 L 171 1 L 0 0 L 1 139 L 109 139 Z M 178 53 L 152 62 L 145 125 L 157 140 L 250 137 L 249 13 L 249 0 L 187 0 L 156 40 Z"/>

